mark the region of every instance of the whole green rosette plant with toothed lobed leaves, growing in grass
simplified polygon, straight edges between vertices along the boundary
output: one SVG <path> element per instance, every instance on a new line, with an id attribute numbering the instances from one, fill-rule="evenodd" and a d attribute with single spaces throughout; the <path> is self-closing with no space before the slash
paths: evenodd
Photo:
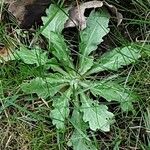
<path id="1" fill-rule="evenodd" d="M 68 9 L 51 5 L 46 13 L 42 18 L 42 34 L 48 41 L 48 52 L 26 48 L 18 52 L 22 61 L 43 66 L 45 72 L 43 77 L 22 83 L 21 88 L 27 94 L 35 93 L 45 101 L 52 101 L 50 117 L 56 129 L 65 131 L 68 125 L 73 128 L 68 146 L 73 146 L 74 150 L 96 150 L 87 129 L 110 131 L 115 116 L 109 111 L 109 103 L 116 101 L 122 111 L 129 111 L 137 95 L 120 84 L 115 75 L 100 78 L 95 75 L 103 71 L 115 74 L 123 66 L 134 63 L 140 57 L 140 50 L 132 46 L 117 47 L 94 58 L 93 52 L 110 30 L 110 16 L 106 10 L 93 10 L 87 18 L 86 28 L 79 31 L 77 61 L 73 61 L 62 34 Z"/>

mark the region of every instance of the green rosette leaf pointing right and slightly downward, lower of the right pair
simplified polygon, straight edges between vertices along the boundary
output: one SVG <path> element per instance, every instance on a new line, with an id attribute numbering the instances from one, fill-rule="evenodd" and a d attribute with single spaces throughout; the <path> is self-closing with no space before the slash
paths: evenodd
<path id="1" fill-rule="evenodd" d="M 95 96 L 99 95 L 109 102 L 119 102 L 123 111 L 133 110 L 132 102 L 138 99 L 130 89 L 124 88 L 115 81 L 97 82 L 90 90 Z"/>

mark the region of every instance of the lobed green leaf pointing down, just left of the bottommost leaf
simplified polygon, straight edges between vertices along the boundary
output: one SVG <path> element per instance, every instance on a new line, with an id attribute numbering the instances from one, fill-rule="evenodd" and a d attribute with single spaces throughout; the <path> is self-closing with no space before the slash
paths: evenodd
<path id="1" fill-rule="evenodd" d="M 57 129 L 65 129 L 65 119 L 69 116 L 69 100 L 71 90 L 68 89 L 60 97 L 53 98 L 53 107 L 51 111 L 51 118 Z"/>

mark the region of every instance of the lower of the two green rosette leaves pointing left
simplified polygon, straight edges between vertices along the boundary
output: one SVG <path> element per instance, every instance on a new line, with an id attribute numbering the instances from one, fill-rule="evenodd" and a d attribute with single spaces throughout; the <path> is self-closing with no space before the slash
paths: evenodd
<path id="1" fill-rule="evenodd" d="M 48 96 L 54 96 L 66 85 L 65 83 L 59 83 L 59 81 L 60 79 L 58 79 L 58 82 L 52 83 L 51 78 L 42 79 L 37 77 L 36 79 L 30 80 L 29 83 L 23 83 L 21 89 L 27 94 L 36 93 L 41 98 L 47 98 Z"/>

